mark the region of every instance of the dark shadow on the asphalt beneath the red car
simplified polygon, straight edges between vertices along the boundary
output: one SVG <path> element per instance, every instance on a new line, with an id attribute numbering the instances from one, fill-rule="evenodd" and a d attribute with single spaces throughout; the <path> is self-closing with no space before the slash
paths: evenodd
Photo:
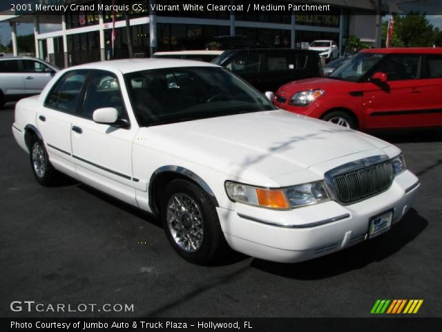
<path id="1" fill-rule="evenodd" d="M 442 128 L 379 129 L 376 131 L 367 131 L 367 133 L 392 144 L 442 142 Z"/>

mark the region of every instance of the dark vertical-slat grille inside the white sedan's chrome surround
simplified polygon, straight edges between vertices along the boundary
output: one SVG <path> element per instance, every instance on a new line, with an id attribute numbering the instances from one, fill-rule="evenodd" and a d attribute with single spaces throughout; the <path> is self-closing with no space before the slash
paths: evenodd
<path id="1" fill-rule="evenodd" d="M 383 192 L 392 181 L 393 167 L 390 160 L 333 178 L 336 194 L 343 203 L 354 203 Z"/>

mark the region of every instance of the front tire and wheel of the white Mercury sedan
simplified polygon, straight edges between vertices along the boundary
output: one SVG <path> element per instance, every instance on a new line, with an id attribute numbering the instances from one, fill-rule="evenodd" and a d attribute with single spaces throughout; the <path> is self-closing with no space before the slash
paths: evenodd
<path id="1" fill-rule="evenodd" d="M 215 204 L 195 183 L 176 179 L 167 185 L 161 219 L 173 249 L 191 263 L 211 264 L 226 246 Z"/>

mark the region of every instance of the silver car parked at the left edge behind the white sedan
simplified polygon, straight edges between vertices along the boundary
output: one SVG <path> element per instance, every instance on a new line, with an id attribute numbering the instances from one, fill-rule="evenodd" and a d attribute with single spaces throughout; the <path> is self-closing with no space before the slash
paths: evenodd
<path id="1" fill-rule="evenodd" d="M 0 107 L 5 102 L 38 95 L 57 71 L 57 66 L 34 57 L 1 57 Z"/>

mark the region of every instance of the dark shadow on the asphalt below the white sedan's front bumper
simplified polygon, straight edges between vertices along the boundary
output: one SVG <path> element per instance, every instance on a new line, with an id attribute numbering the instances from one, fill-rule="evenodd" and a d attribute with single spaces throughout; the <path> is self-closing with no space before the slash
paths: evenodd
<path id="1" fill-rule="evenodd" d="M 411 209 L 390 232 L 332 255 L 296 264 L 253 259 L 251 266 L 267 273 L 299 280 L 318 280 L 358 270 L 400 251 L 425 230 L 428 221 Z"/>

